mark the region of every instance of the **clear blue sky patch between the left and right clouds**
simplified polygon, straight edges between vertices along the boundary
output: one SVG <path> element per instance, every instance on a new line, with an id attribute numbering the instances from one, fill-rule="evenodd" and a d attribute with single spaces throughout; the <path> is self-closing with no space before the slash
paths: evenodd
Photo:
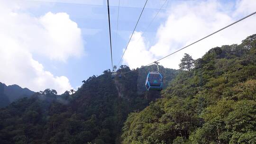
<path id="1" fill-rule="evenodd" d="M 40 17 L 47 12 L 53 13 L 66 12 L 70 19 L 78 24 L 82 29 L 82 37 L 84 40 L 85 53 L 81 58 L 70 58 L 67 63 L 59 61 L 50 61 L 44 57 L 37 55 L 37 60 L 42 63 L 47 71 L 54 75 L 64 75 L 69 78 L 73 87 L 80 86 L 82 80 L 86 80 L 91 75 L 100 75 L 106 69 L 110 69 L 110 39 L 108 29 L 107 5 L 105 0 L 86 4 L 86 2 L 72 3 L 69 2 L 35 2 L 40 3 L 38 8 L 27 9 L 27 13 Z M 148 26 L 153 15 L 164 4 L 164 0 L 152 0 L 148 5 L 155 4 L 154 7 L 146 8 L 143 16 L 137 26 L 137 31 L 143 31 Z M 117 17 L 118 17 L 118 0 L 110 0 L 110 20 L 111 34 L 113 45 L 113 63 L 117 64 L 122 54 L 122 49 L 125 48 L 128 42 L 129 35 L 137 22 L 137 18 L 145 4 L 144 0 L 138 0 L 134 4 L 128 0 L 120 0 L 119 7 L 119 30 L 116 35 Z M 98 5 L 100 4 L 100 5 Z M 170 3 L 169 3 L 170 4 Z M 165 11 L 167 2 L 162 12 Z M 156 18 L 151 27 L 148 28 L 148 37 L 152 37 L 156 32 L 157 27 L 164 21 L 165 18 Z M 121 36 L 120 36 L 121 35 Z"/>

